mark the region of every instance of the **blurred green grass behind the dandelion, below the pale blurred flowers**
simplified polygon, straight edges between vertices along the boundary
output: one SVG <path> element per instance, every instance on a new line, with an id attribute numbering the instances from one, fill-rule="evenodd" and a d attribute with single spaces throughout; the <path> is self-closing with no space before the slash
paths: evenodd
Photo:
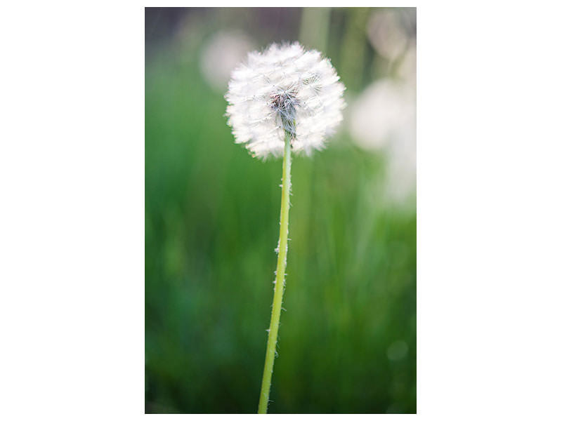
<path id="1" fill-rule="evenodd" d="M 281 161 L 235 145 L 221 94 L 174 57 L 146 67 L 146 411 L 256 413 Z M 416 215 L 384 205 L 383 171 L 346 131 L 294 159 L 270 413 L 416 411 Z"/>

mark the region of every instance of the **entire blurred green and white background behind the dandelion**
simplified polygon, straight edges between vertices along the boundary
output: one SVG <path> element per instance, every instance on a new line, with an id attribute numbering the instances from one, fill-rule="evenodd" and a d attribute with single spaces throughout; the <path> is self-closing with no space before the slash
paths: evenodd
<path id="1" fill-rule="evenodd" d="M 416 411 L 416 11 L 145 9 L 145 410 L 256 413 L 281 161 L 235 145 L 228 75 L 299 40 L 347 87 L 293 162 L 270 413 Z"/>

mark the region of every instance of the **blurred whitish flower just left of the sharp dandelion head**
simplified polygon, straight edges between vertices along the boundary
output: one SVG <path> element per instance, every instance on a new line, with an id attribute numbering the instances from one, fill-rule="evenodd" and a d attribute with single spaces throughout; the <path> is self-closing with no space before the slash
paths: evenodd
<path id="1" fill-rule="evenodd" d="M 201 73 L 209 85 L 223 92 L 228 86 L 230 72 L 254 49 L 249 36 L 240 31 L 221 31 L 203 46 L 200 60 Z"/>

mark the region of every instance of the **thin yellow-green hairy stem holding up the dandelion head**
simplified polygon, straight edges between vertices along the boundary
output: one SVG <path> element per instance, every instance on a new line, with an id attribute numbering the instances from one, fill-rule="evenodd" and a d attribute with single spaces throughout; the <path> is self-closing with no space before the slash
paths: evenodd
<path id="1" fill-rule="evenodd" d="M 268 346 L 266 349 L 266 364 L 263 367 L 261 392 L 259 395 L 258 413 L 268 411 L 271 375 L 273 374 L 273 360 L 277 346 L 277 331 L 281 316 L 283 290 L 285 289 L 285 267 L 287 267 L 287 235 L 289 234 L 289 192 L 291 190 L 291 135 L 285 134 L 285 153 L 283 154 L 283 181 L 281 189 L 281 216 L 279 228 L 279 245 L 277 247 L 277 271 L 275 272 L 275 289 L 273 293 L 273 309 L 269 325 Z"/>

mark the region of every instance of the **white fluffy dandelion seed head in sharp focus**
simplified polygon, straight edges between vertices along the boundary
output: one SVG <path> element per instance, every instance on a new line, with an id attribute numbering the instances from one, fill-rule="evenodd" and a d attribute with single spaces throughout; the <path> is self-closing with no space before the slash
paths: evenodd
<path id="1" fill-rule="evenodd" d="M 260 158 L 282 156 L 285 133 L 293 152 L 311 154 L 342 120 L 345 86 L 332 63 L 298 42 L 253 51 L 233 70 L 226 116 L 236 143 Z"/>

